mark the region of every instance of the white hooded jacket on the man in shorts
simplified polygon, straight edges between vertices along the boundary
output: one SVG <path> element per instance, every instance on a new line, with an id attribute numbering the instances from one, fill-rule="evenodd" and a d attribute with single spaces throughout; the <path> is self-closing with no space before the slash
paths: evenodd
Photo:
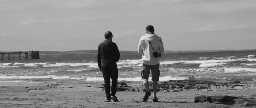
<path id="1" fill-rule="evenodd" d="M 153 56 L 153 48 L 149 44 L 151 42 L 152 47 L 155 52 L 163 55 L 163 41 L 160 36 L 156 34 L 146 34 L 141 36 L 140 42 L 138 45 L 138 53 L 142 54 L 143 64 L 147 65 L 156 65 L 159 64 L 160 58 L 155 58 Z"/>

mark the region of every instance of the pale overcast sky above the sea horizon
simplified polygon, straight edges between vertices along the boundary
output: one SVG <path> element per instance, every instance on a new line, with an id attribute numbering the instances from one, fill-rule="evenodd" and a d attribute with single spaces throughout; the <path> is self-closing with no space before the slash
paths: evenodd
<path id="1" fill-rule="evenodd" d="M 137 50 L 147 25 L 165 50 L 254 49 L 256 0 L 0 0 L 0 51 Z"/>

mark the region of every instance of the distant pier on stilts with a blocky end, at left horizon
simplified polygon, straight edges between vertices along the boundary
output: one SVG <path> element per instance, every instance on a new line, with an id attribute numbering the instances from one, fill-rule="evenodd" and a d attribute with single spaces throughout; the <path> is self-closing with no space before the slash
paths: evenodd
<path id="1" fill-rule="evenodd" d="M 39 51 L 29 51 L 29 52 L 4 52 L 0 53 L 2 61 L 5 60 L 5 55 L 7 54 L 7 60 L 11 60 L 10 54 L 19 54 L 19 60 L 21 60 L 21 55 L 24 54 L 24 59 L 39 59 Z M 14 58 L 13 58 L 14 60 Z"/>

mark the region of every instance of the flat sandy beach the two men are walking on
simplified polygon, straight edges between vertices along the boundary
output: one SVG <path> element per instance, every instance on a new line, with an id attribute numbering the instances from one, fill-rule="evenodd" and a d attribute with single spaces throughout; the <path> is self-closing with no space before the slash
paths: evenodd
<path id="1" fill-rule="evenodd" d="M 100 83 L 103 82 L 96 85 Z M 127 84 L 143 88 L 140 83 Z M 119 91 L 116 93 L 119 102 L 104 102 L 105 91 L 95 84 L 74 81 L 47 87 L 48 84 L 0 83 L 0 108 L 237 108 L 242 106 L 195 103 L 194 100 L 199 95 L 246 97 L 256 94 L 252 89 L 159 91 L 157 96 L 160 102 L 152 102 L 151 98 L 143 101 L 142 91 Z"/>

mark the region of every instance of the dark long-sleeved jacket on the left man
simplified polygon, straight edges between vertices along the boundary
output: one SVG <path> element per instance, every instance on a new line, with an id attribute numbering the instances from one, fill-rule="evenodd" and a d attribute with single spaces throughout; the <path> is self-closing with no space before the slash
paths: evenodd
<path id="1" fill-rule="evenodd" d="M 119 61 L 120 53 L 116 43 L 105 39 L 98 47 L 98 66 L 116 64 Z"/>

